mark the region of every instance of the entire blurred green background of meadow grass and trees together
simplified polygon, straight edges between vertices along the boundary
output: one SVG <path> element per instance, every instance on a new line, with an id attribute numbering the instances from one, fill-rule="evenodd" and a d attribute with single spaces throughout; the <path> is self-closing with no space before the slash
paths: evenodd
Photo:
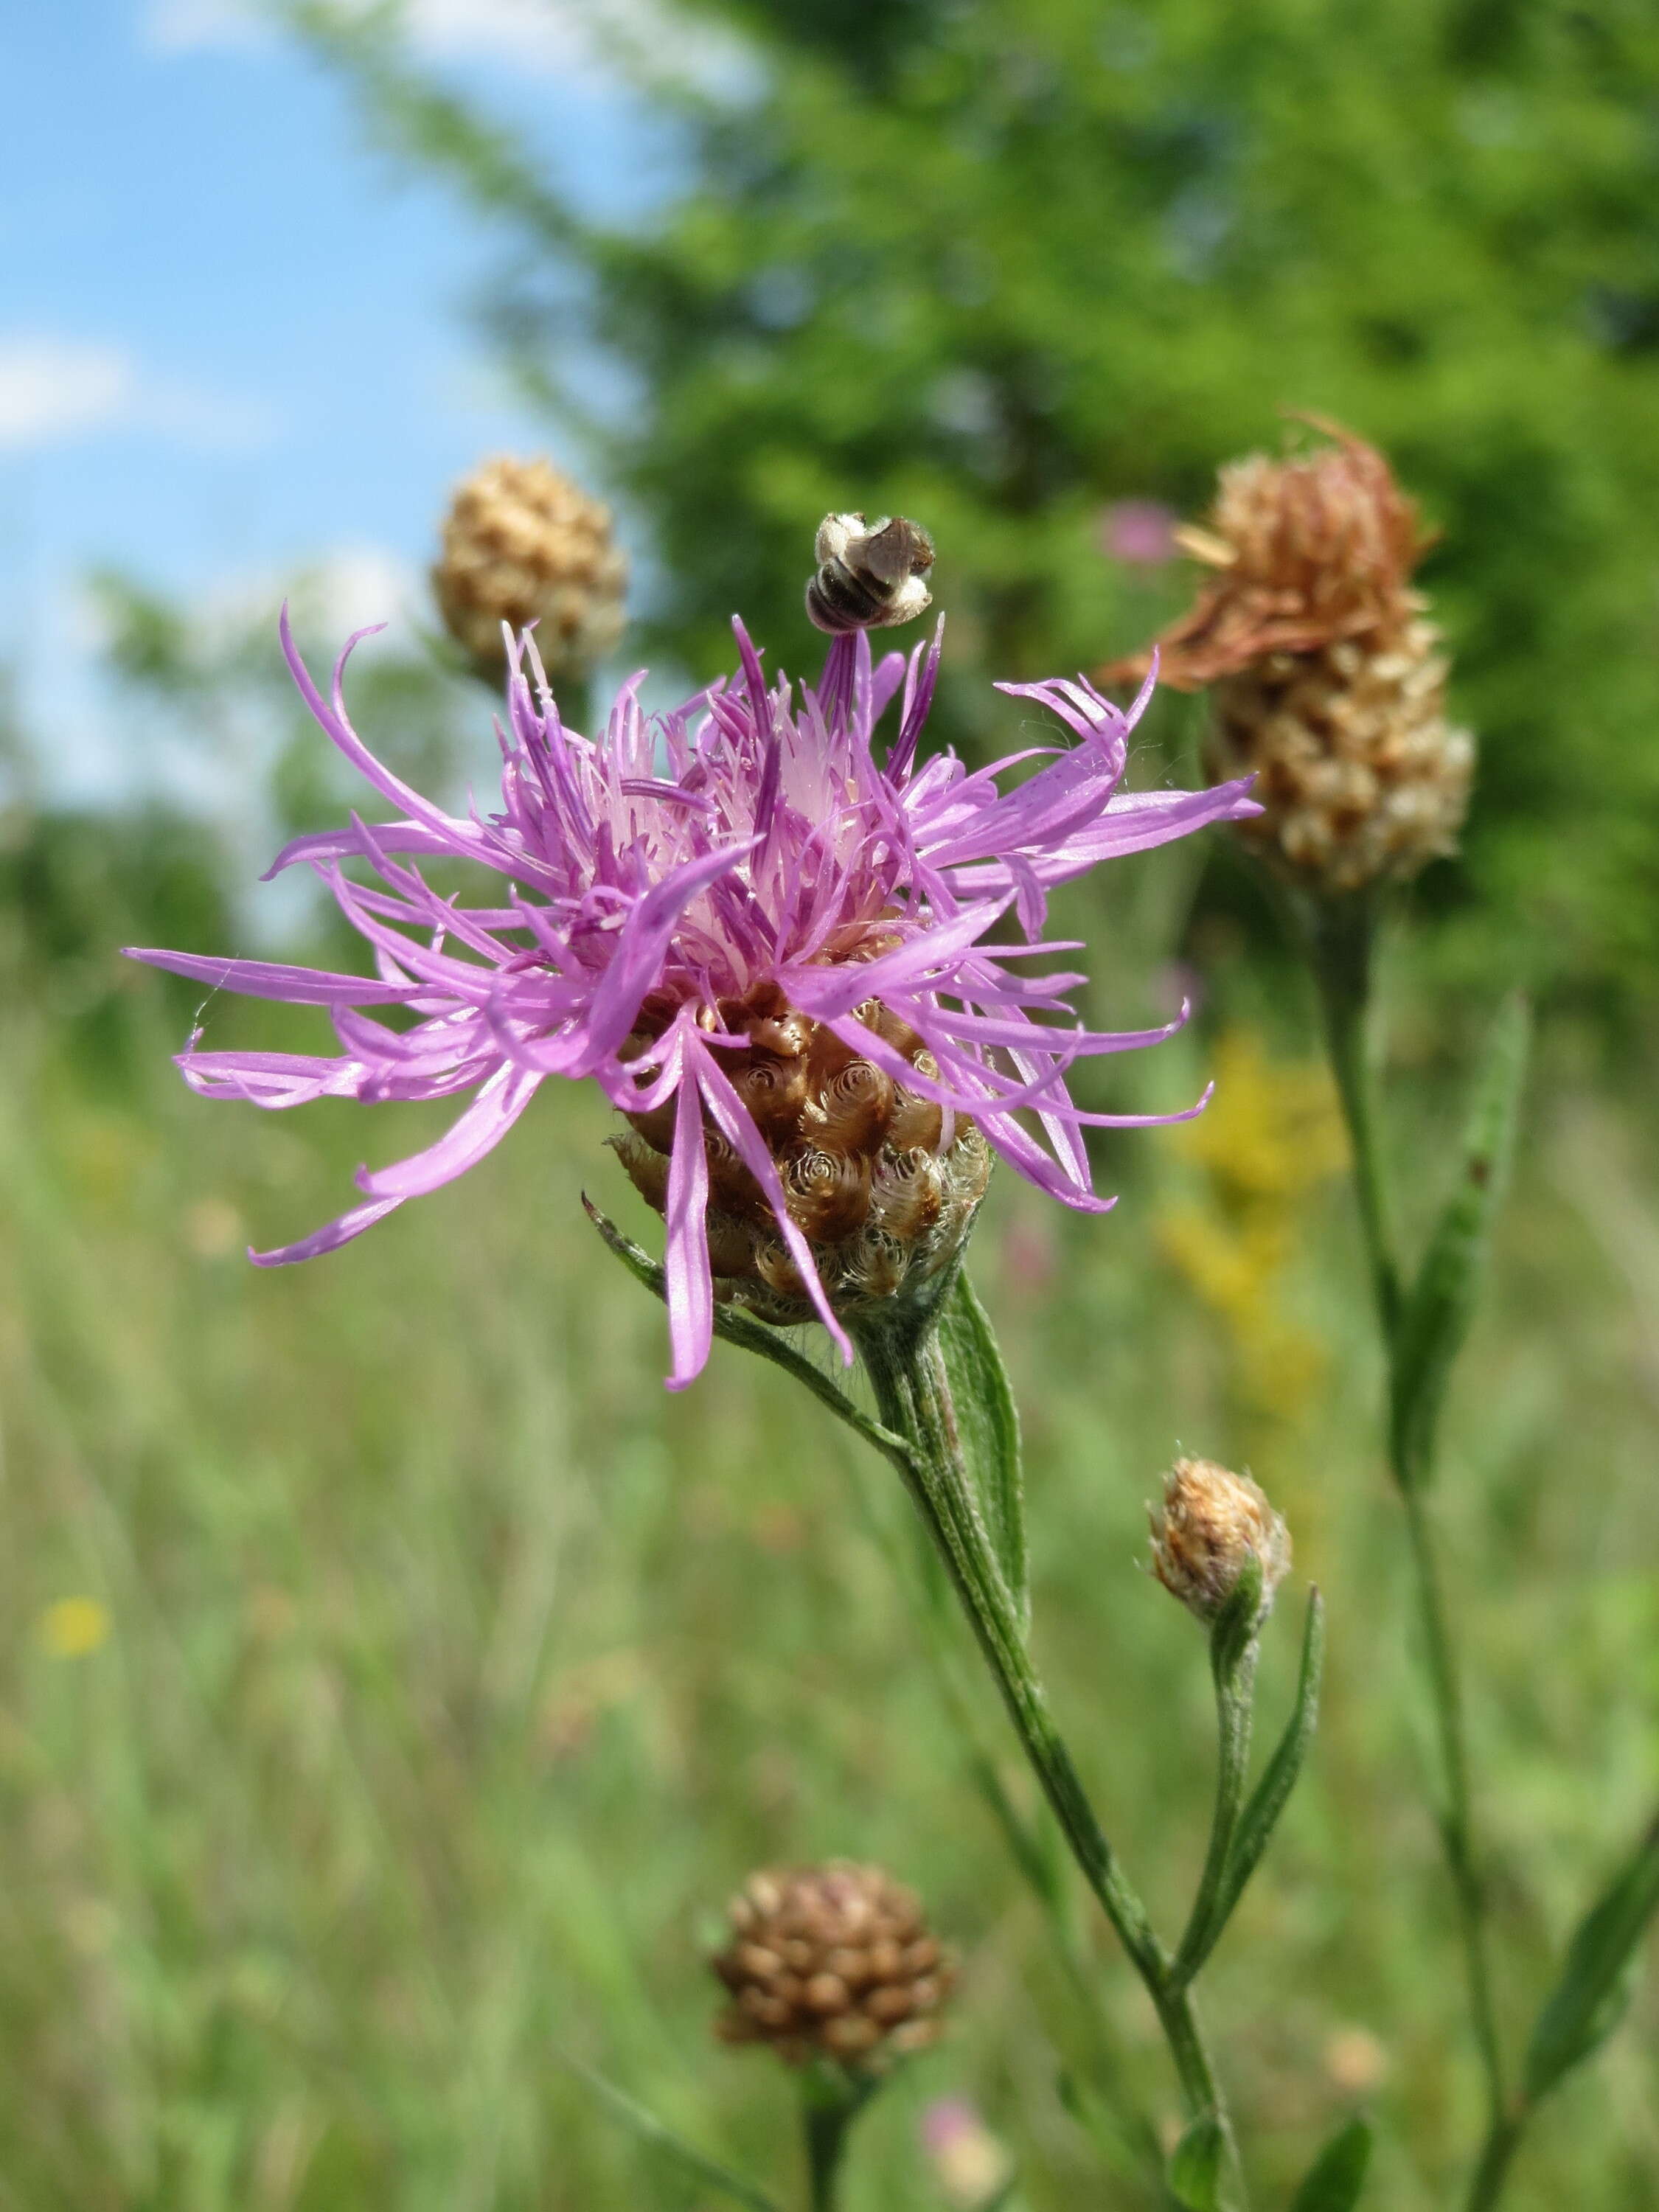
<path id="1" fill-rule="evenodd" d="M 1540 1057 L 1436 1513 L 1511 2048 L 1659 1772 L 1659 73 L 1646 9 L 1409 0 L 708 7 L 759 55 L 737 119 L 672 106 L 686 186 L 602 234 L 396 11 L 292 35 L 365 128 L 480 212 L 489 327 L 653 549 L 644 655 L 703 675 L 743 606 L 807 666 L 803 549 L 830 504 L 940 535 L 940 728 L 1018 739 L 989 675 L 1126 650 L 1181 604 L 1102 551 L 1102 509 L 1190 511 L 1219 460 L 1314 407 L 1380 438 L 1442 529 L 1425 571 L 1482 741 L 1458 863 L 1385 973 L 1409 1225 L 1447 1172 L 1500 993 Z M 580 283 L 573 281 L 580 279 Z M 628 403 L 577 409 L 595 334 Z M 445 487 L 434 487 L 434 518 Z M 319 518 L 319 538 L 325 518 Z M 201 641 L 144 577 L 111 653 L 204 745 L 248 706 L 270 841 L 338 818 L 261 637 Z M 312 628 L 325 653 L 330 639 Z M 453 787 L 489 699 L 418 644 L 358 721 Z M 1135 781 L 1190 779 L 1161 703 Z M 15 732 L 27 745 L 29 732 Z M 257 787 L 254 787 L 257 785 Z M 243 1245 L 336 1212 L 416 1108 L 208 1106 L 168 1055 L 199 993 L 122 942 L 252 942 L 232 854 L 164 812 L 66 814 L 27 781 L 0 852 L 0 2212 L 692 2212 L 595 2106 L 602 2068 L 796 2201 L 794 2115 L 710 2039 L 703 1966 L 757 1863 L 891 1865 L 962 1958 L 951 2039 L 863 2126 L 849 2212 L 947 2205 L 918 2119 L 967 2095 L 1029 2212 L 1139 2199 L 1079 2112 L 1175 2117 L 1139 1986 L 1086 1920 L 1110 2046 L 964 1774 L 889 1473 L 776 1371 L 717 1347 L 670 1398 L 661 1314 L 580 1192 L 650 1237 L 588 1091 L 544 1093 L 460 1186 L 319 1265 Z M 1307 1579 L 1325 1719 L 1208 2015 L 1259 2203 L 1343 2115 L 1367 2203 L 1455 2201 L 1480 2124 L 1425 1805 L 1380 1374 L 1312 1009 L 1221 849 L 1057 902 L 1086 1013 L 1201 1015 L 1095 1106 L 1199 1135 L 1102 1141 L 1104 1221 L 993 1183 L 973 1274 L 1026 1425 L 1037 1644 L 1108 1834 L 1168 1929 L 1203 1847 L 1203 1646 L 1141 1571 L 1177 1449 L 1248 1462 L 1292 1522 L 1263 1703 Z M 270 925 L 265 925 L 268 929 Z M 354 958 L 319 909 L 296 953 Z M 215 1044 L 314 1042 L 215 1000 Z M 553 1091 L 553 1086 L 549 1086 Z M 1287 1135 L 1290 1133 L 1290 1135 Z M 989 1694 L 984 1743 L 1022 1792 Z M 1548 2106 L 1515 2212 L 1659 2201 L 1659 1980 Z"/>

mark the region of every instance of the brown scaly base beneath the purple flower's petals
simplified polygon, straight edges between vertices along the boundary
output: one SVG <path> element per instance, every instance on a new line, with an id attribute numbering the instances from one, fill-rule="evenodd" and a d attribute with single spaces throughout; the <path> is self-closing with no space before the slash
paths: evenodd
<path id="1" fill-rule="evenodd" d="M 721 1066 L 768 1139 L 785 1206 L 834 1310 L 876 1316 L 891 1301 L 922 1296 L 960 1252 L 991 1179 L 980 1130 L 794 1011 L 774 982 L 721 1000 L 719 1018 L 750 1040 L 745 1053 L 721 1055 Z M 938 1075 L 916 1031 L 878 1000 L 865 1000 L 856 1018 L 918 1073 Z M 639 1042 L 646 1037 L 641 1031 Z M 628 1124 L 611 1144 L 641 1199 L 664 1212 L 675 1110 L 628 1115 Z M 761 1321 L 810 1321 L 761 1186 L 719 1130 L 703 1130 L 703 1148 L 714 1296 Z"/>

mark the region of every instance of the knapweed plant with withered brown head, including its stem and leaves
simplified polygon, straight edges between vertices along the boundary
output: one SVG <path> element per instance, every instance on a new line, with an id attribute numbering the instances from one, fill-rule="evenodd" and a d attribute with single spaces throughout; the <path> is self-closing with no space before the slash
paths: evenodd
<path id="1" fill-rule="evenodd" d="M 1440 1411 L 1480 1294 L 1526 1068 L 1528 1009 L 1509 998 L 1473 1079 L 1451 1188 L 1416 1265 L 1394 1225 L 1376 1084 L 1376 953 L 1396 894 L 1455 847 L 1475 745 L 1447 714 L 1447 659 L 1413 571 L 1431 544 L 1374 447 L 1334 422 L 1312 451 L 1252 453 L 1221 471 L 1201 524 L 1181 531 L 1210 571 L 1157 650 L 1210 695 L 1208 759 L 1254 774 L 1261 812 L 1239 843 L 1305 960 L 1352 1146 L 1371 1307 L 1387 1376 L 1385 1453 L 1402 1506 L 1436 1743 L 1436 1823 L 1464 1953 L 1486 2132 L 1469 2212 L 1500 2201 L 1544 2097 L 1613 2031 L 1635 1949 L 1659 1905 L 1659 1820 L 1579 1920 L 1520 2055 L 1506 2048 L 1491 1960 L 1489 1885 L 1464 1730 L 1455 1617 L 1444 1597 L 1431 1491 Z"/>

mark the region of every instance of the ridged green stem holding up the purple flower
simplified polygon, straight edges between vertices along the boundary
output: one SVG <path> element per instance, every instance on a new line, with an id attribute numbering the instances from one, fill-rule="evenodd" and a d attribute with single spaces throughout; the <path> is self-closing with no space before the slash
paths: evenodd
<path id="1" fill-rule="evenodd" d="M 962 1464 L 956 1407 L 938 1338 L 931 1329 L 914 1334 L 869 1332 L 863 1336 L 860 1349 L 883 1422 L 911 1444 L 907 1469 L 911 1500 L 938 1546 L 1031 1770 L 1060 1820 L 1084 1880 L 1095 1891 L 1152 1997 L 1190 2115 L 1208 2115 L 1217 2121 L 1228 2143 L 1228 2163 L 1239 2177 L 1232 2121 L 1199 2031 L 1190 1991 L 1170 1986 L 1168 1953 L 1106 1843 L 1031 1663 L 1013 1595 L 998 1566 Z M 1241 2177 L 1239 2192 L 1243 2199 Z"/>

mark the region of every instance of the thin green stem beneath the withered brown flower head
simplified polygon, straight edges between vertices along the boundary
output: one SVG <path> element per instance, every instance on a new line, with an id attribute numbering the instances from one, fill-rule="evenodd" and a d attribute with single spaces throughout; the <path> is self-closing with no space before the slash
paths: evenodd
<path id="1" fill-rule="evenodd" d="M 1402 1292 L 1389 1228 L 1387 1170 L 1383 1161 L 1369 1051 L 1371 940 L 1376 933 L 1376 914 L 1363 898 L 1327 905 L 1314 920 L 1305 922 L 1303 933 L 1314 967 L 1314 980 L 1318 984 L 1325 1044 L 1332 1060 L 1332 1073 L 1336 1077 L 1336 1091 L 1343 1102 L 1349 1148 L 1354 1152 L 1354 1192 L 1358 1199 L 1360 1228 L 1365 1232 L 1365 1256 L 1371 1272 L 1371 1294 L 1383 1336 L 1389 1402 L 1394 1402 L 1398 1389 L 1396 1365 Z M 1486 2081 L 1491 2152 L 1491 2146 L 1504 2137 L 1511 2121 L 1504 2090 L 1502 2044 L 1498 2037 L 1498 2006 L 1493 2000 L 1486 1898 L 1480 1880 L 1473 1836 L 1462 1683 L 1458 1655 L 1451 1641 L 1451 1624 L 1440 1590 L 1433 1528 L 1422 1506 L 1422 1486 L 1429 1478 L 1429 1467 L 1402 1467 L 1394 1453 L 1389 1453 L 1389 1464 L 1407 1515 L 1411 1586 L 1429 1672 L 1429 1708 L 1440 1761 L 1442 1803 L 1438 1827 L 1458 1909 L 1464 1978 L 1469 1984 L 1469 2013 Z M 1502 2183 L 1502 2172 L 1509 2166 L 1513 2150 L 1515 2143 L 1509 2141 L 1502 2150 L 1500 2163 L 1493 2168 L 1493 2190 Z M 1495 2157 L 1495 2152 L 1491 2154 Z M 1482 2172 L 1486 2168 L 1482 2166 Z"/>

